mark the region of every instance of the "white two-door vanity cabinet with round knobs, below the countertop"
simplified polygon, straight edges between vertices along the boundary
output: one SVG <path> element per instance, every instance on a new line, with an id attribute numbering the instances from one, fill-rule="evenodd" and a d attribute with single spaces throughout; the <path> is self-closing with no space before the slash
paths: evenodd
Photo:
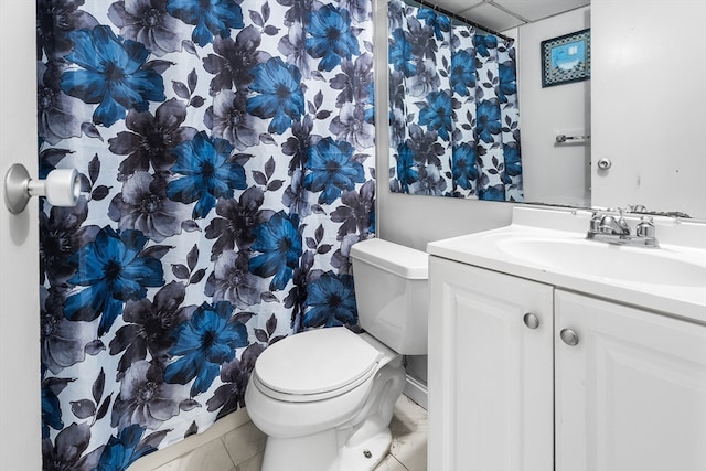
<path id="1" fill-rule="evenodd" d="M 429 469 L 706 469 L 706 327 L 430 257 Z"/>

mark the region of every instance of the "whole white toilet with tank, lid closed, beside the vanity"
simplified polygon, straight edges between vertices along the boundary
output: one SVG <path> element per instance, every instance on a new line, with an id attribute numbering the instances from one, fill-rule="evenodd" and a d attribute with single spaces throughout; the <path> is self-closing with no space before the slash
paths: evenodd
<path id="1" fill-rule="evenodd" d="M 255 362 L 245 402 L 267 435 L 263 471 L 363 471 L 389 451 L 402 355 L 427 353 L 428 256 L 372 238 L 351 248 L 359 322 L 287 336 Z"/>

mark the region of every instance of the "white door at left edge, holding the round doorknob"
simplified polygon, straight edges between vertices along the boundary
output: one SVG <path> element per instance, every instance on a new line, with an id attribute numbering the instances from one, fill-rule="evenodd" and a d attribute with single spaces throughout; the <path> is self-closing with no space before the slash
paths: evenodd
<path id="1" fill-rule="evenodd" d="M 4 206 L 15 162 L 36 176 L 34 1 L 0 1 L 0 470 L 41 469 L 36 201 Z"/>

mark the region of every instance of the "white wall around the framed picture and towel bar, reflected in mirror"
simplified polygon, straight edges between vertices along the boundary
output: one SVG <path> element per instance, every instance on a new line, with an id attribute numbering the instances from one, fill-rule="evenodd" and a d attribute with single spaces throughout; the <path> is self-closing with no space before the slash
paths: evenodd
<path id="1" fill-rule="evenodd" d="M 591 81 L 542 88 L 541 53 L 542 41 L 587 28 L 584 7 L 506 32 L 517 38 L 525 201 L 590 206 L 590 140 L 557 143 L 556 136 L 590 136 Z"/>

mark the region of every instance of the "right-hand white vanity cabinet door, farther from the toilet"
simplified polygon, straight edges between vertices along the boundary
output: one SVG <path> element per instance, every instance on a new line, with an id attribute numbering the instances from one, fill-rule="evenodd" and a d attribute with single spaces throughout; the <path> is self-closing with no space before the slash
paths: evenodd
<path id="1" fill-rule="evenodd" d="M 556 470 L 705 470 L 706 327 L 555 296 Z"/>

